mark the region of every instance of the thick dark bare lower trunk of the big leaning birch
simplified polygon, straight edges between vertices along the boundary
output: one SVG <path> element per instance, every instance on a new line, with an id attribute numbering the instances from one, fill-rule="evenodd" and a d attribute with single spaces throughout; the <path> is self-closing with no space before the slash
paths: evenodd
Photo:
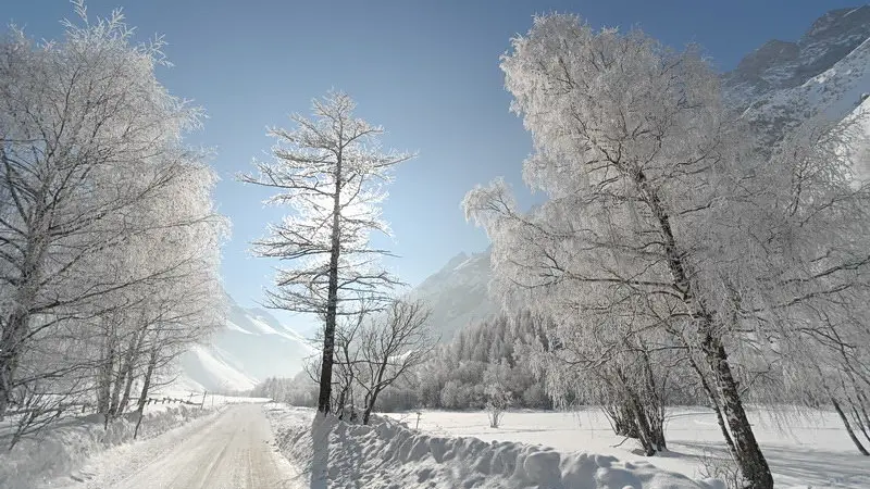
<path id="1" fill-rule="evenodd" d="M 748 482 L 747 489 L 772 489 L 770 466 L 755 439 L 724 347 L 718 338 L 707 333 L 701 341 L 701 350 L 716 378 L 717 393 L 734 441 L 737 465 Z"/>

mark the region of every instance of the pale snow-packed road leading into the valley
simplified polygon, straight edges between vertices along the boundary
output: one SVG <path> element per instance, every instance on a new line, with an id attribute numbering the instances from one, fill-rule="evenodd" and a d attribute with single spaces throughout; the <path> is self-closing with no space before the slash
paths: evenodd
<path id="1" fill-rule="evenodd" d="M 301 488 L 276 451 L 259 404 L 223 413 L 92 459 L 70 488 Z M 57 487 L 57 486 L 55 486 Z"/>

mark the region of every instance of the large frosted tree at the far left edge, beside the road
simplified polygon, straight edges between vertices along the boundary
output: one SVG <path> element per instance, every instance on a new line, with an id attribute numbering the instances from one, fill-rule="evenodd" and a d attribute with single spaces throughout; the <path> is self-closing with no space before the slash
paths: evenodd
<path id="1" fill-rule="evenodd" d="M 75 8 L 62 41 L 13 30 L 0 47 L 0 417 L 33 380 L 20 368 L 34 341 L 94 319 L 100 297 L 172 273 L 92 266 L 117 264 L 112 250 L 149 230 L 135 208 L 201 153 L 182 140 L 201 110 L 154 76 L 162 40 L 134 42 L 120 11 L 90 22 Z"/>

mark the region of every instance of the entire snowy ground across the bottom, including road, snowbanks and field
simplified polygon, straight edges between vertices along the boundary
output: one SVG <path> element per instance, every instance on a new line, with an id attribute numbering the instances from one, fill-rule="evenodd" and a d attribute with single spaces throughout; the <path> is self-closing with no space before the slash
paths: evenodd
<path id="1" fill-rule="evenodd" d="M 424 411 L 417 429 L 417 413 L 360 426 L 263 401 L 156 409 L 132 443 L 133 417 L 109 431 L 97 416 L 73 417 L 0 454 L 0 487 L 723 488 L 704 468 L 725 456 L 704 409 L 672 410 L 670 450 L 645 457 L 598 410 L 508 412 L 500 428 L 485 412 Z M 867 459 L 833 413 L 758 410 L 751 419 L 776 487 L 870 487 Z"/>

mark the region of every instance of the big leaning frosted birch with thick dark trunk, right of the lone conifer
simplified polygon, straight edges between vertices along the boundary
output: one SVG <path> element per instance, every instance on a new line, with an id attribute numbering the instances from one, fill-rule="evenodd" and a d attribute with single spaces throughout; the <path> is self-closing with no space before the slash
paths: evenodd
<path id="1" fill-rule="evenodd" d="M 495 290 L 612 334 L 614 350 L 620 335 L 647 329 L 682 342 L 714 386 L 744 477 L 772 487 L 729 356 L 729 286 L 746 259 L 744 237 L 730 233 L 744 210 L 729 191 L 753 168 L 716 74 L 695 50 L 594 32 L 572 15 L 537 17 L 501 67 L 535 145 L 524 178 L 549 200 L 522 215 L 501 181 L 467 196 L 494 243 Z"/>

